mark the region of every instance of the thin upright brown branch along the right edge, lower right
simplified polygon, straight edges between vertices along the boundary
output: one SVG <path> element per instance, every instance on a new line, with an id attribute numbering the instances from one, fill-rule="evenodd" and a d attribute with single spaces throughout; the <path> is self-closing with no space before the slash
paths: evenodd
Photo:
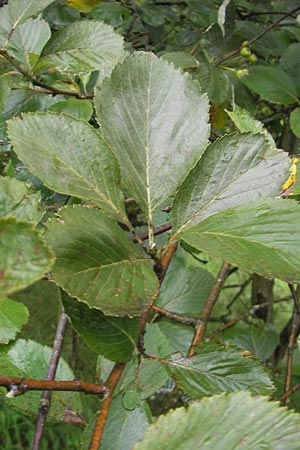
<path id="1" fill-rule="evenodd" d="M 294 344 L 296 341 L 299 325 L 300 325 L 300 315 L 299 315 L 299 287 L 297 288 L 297 291 L 295 291 L 295 288 L 292 283 L 289 283 L 289 288 L 291 291 L 291 294 L 294 299 L 294 308 L 293 308 L 293 316 L 292 316 L 292 329 L 290 333 L 288 348 L 287 348 L 287 364 L 286 364 L 286 374 L 285 374 L 285 385 L 284 385 L 284 404 L 287 405 L 289 402 L 289 396 L 287 395 L 287 392 L 291 389 L 291 381 L 292 381 L 292 365 L 293 365 L 293 350 L 294 350 Z"/>

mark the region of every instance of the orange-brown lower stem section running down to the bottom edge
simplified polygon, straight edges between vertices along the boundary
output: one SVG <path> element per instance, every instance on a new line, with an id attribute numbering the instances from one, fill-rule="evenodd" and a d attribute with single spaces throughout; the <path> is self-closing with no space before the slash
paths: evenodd
<path id="1" fill-rule="evenodd" d="M 104 432 L 104 427 L 106 424 L 109 407 L 113 398 L 114 391 L 117 387 L 119 379 L 122 375 L 122 372 L 125 368 L 124 363 L 116 363 L 106 381 L 106 386 L 108 389 L 107 395 L 103 400 L 102 407 L 99 412 L 99 416 L 97 418 L 93 436 L 90 442 L 89 450 L 98 450 L 100 448 L 101 439 Z"/>

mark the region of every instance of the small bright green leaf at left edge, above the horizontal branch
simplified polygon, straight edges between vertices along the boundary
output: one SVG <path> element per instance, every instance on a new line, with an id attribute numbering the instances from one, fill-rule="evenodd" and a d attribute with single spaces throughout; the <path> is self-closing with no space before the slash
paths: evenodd
<path id="1" fill-rule="evenodd" d="M 28 309 L 9 298 L 0 300 L 0 344 L 15 339 L 28 320 Z"/>

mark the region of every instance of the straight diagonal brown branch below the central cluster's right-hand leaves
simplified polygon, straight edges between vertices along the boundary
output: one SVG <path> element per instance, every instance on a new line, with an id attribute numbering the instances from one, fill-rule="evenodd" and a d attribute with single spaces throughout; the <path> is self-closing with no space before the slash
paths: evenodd
<path id="1" fill-rule="evenodd" d="M 211 291 L 211 293 L 207 299 L 207 302 L 203 308 L 202 317 L 199 320 L 199 325 L 196 328 L 191 346 L 188 351 L 188 358 L 191 358 L 195 354 L 195 347 L 197 345 L 199 345 L 200 342 L 204 338 L 207 321 L 212 313 L 213 307 L 216 304 L 216 301 L 219 297 L 219 294 L 221 292 L 222 286 L 226 280 L 229 270 L 230 270 L 230 264 L 227 262 L 224 262 L 218 273 L 216 283 L 213 286 L 212 291 Z"/>

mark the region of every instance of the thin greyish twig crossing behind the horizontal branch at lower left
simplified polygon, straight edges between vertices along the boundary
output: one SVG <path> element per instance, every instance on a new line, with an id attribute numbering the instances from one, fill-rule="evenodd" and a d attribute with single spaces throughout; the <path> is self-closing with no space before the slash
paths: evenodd
<path id="1" fill-rule="evenodd" d="M 59 317 L 58 324 L 57 324 L 57 329 L 56 329 L 56 334 L 55 334 L 55 339 L 54 339 L 54 344 L 53 344 L 53 349 L 52 349 L 52 355 L 50 358 L 48 372 L 46 375 L 46 380 L 48 380 L 48 381 L 54 380 L 54 378 L 55 378 L 67 323 L 68 323 L 68 318 L 65 315 L 64 311 L 62 311 L 61 315 Z M 37 423 L 36 423 L 32 446 L 31 446 L 32 450 L 39 450 L 39 448 L 40 448 L 48 411 L 50 409 L 50 404 L 51 404 L 51 391 L 44 391 L 41 395 L 39 414 L 38 414 L 38 419 L 37 419 Z"/>

